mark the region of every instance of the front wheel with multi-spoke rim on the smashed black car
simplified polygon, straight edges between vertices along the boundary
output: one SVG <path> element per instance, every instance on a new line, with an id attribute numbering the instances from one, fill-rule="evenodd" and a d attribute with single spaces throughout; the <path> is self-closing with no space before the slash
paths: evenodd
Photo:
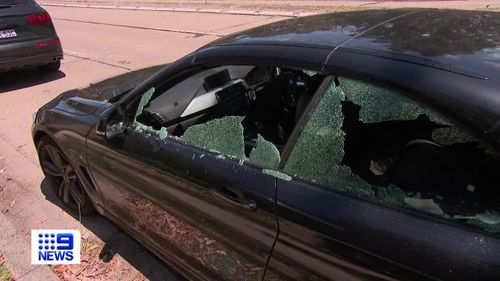
<path id="1" fill-rule="evenodd" d="M 74 167 L 57 145 L 48 137 L 43 137 L 37 145 L 37 151 L 45 178 L 57 197 L 75 212 L 91 213 L 94 206 Z"/>

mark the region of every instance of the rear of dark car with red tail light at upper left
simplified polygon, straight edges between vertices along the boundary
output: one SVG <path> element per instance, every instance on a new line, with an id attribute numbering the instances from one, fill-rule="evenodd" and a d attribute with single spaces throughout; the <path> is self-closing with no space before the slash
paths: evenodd
<path id="1" fill-rule="evenodd" d="M 0 0 L 0 72 L 59 70 L 63 51 L 50 15 L 33 0 Z"/>

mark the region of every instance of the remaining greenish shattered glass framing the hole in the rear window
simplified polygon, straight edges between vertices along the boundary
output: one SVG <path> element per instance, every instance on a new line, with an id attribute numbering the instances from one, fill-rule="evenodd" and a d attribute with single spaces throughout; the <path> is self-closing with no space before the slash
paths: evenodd
<path id="1" fill-rule="evenodd" d="M 345 127 L 346 124 L 344 124 L 349 120 L 349 116 L 346 117 L 345 121 L 343 120 L 342 101 L 345 100 L 359 105 L 357 107 L 359 108 L 359 120 L 365 123 L 408 121 L 425 115 L 434 123 L 450 126 L 447 128 L 435 126 L 439 129 L 434 130 L 432 137 L 441 145 L 476 142 L 476 140 L 464 133 L 459 127 L 453 127 L 453 124 L 446 118 L 409 98 L 364 82 L 344 78 L 339 80 L 340 86 L 335 87 L 332 83 L 319 101 L 316 109 L 311 113 L 308 123 L 306 123 L 305 128 L 299 135 L 295 148 L 285 164 L 283 170 L 285 173 L 313 183 L 330 186 L 338 191 L 375 199 L 385 204 L 413 208 L 450 220 L 465 221 L 467 224 L 485 231 L 500 233 L 500 212 L 487 211 L 473 216 L 453 216 L 445 213 L 445 211 L 448 212 L 449 206 L 443 204 L 443 207 L 441 207 L 437 203 L 441 201 L 447 202 L 448 194 L 433 194 L 432 198 L 439 200 L 436 202 L 428 197 L 428 193 L 425 193 L 425 197 L 422 198 L 420 192 L 415 190 L 412 192 L 407 191 L 403 189 L 404 186 L 402 188 L 391 184 L 388 187 L 377 186 L 376 184 L 390 183 L 390 181 L 383 182 L 383 180 L 384 177 L 391 176 L 391 165 L 394 164 L 396 158 L 389 158 L 390 161 L 384 160 L 385 162 L 370 160 L 367 163 L 366 169 L 371 172 L 371 175 L 367 177 L 378 177 L 378 181 L 374 180 L 374 185 L 354 173 L 343 162 L 345 160 L 344 156 L 350 155 L 345 155 L 350 150 L 344 151 L 344 142 L 346 138 L 349 140 L 351 136 L 349 135 L 350 131 Z M 429 130 L 429 134 L 430 132 Z M 430 140 L 428 143 L 441 147 L 441 145 Z M 349 146 L 346 147 L 347 150 Z M 475 185 L 466 184 L 465 186 L 466 192 L 478 193 Z"/>

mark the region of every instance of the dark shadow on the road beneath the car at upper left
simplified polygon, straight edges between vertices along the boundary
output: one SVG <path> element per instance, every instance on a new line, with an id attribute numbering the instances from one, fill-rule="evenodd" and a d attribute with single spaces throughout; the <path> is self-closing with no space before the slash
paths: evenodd
<path id="1" fill-rule="evenodd" d="M 0 73 L 0 94 L 66 77 L 62 71 L 43 73 L 35 68 Z"/>

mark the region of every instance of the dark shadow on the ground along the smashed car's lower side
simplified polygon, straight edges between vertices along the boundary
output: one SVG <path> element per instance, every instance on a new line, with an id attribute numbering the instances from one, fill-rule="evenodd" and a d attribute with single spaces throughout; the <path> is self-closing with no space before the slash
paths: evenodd
<path id="1" fill-rule="evenodd" d="M 78 214 L 66 208 L 57 198 L 53 188 L 46 179 L 42 181 L 41 189 L 42 193 L 45 195 L 45 199 L 57 205 L 76 220 L 79 219 Z M 124 233 L 107 218 L 98 214 L 85 215 L 82 217 L 82 224 L 104 241 L 104 247 L 99 254 L 103 262 L 109 262 L 115 254 L 119 254 L 149 280 L 182 280 L 182 278 L 173 273 L 174 271 L 165 263 L 160 261 L 156 256 L 140 245 L 131 236 Z"/>

